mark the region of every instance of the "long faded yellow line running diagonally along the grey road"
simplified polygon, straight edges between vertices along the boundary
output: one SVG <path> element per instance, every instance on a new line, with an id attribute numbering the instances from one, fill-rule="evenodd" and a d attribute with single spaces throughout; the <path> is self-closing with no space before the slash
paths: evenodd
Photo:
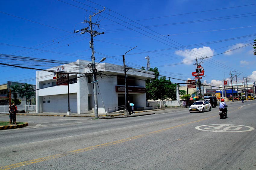
<path id="1" fill-rule="evenodd" d="M 90 146 L 90 147 L 87 147 L 87 148 L 77 149 L 77 150 L 74 150 L 74 151 L 68 151 L 67 153 L 64 153 L 64 154 L 56 154 L 56 155 L 42 157 L 42 158 L 38 158 L 38 159 L 34 159 L 34 160 L 29 160 L 29 161 L 15 163 L 15 164 L 7 165 L 7 166 L 2 166 L 2 167 L 0 167 L 0 170 L 14 169 L 14 168 L 21 167 L 21 166 L 27 166 L 27 165 L 31 165 L 31 164 L 34 164 L 34 163 L 39 163 L 39 162 L 43 162 L 43 161 L 47 161 L 47 160 L 51 160 L 51 159 L 65 157 L 68 154 L 77 154 L 77 153 L 81 153 L 81 152 L 85 152 L 85 151 L 90 151 L 90 150 L 93 150 L 93 149 L 96 149 L 96 148 L 103 148 L 103 147 L 106 147 L 106 146 L 116 145 L 116 144 L 127 142 L 127 141 L 130 141 L 130 140 L 133 140 L 133 139 L 142 138 L 142 137 L 150 135 L 150 134 L 160 133 L 160 132 L 163 132 L 165 130 L 170 130 L 170 129 L 173 129 L 173 128 L 176 128 L 176 127 L 182 127 L 182 126 L 185 126 L 185 125 L 188 125 L 188 124 L 196 123 L 196 122 L 199 122 L 199 121 L 204 121 L 204 120 L 207 120 L 209 118 L 214 118 L 216 116 L 218 116 L 218 115 L 211 116 L 211 117 L 204 118 L 204 119 L 200 119 L 200 120 L 197 120 L 197 121 L 192 121 L 192 122 L 189 122 L 189 123 L 186 123 L 186 124 L 180 124 L 180 125 L 177 125 L 177 126 L 168 127 L 168 128 L 161 129 L 161 130 L 156 130 L 154 132 L 150 132 L 150 133 L 147 133 L 147 134 L 133 136 L 133 137 L 126 138 L 126 139 L 120 139 L 120 140 L 117 140 L 117 141 L 108 142 L 108 143 L 95 145 L 95 146 Z"/>

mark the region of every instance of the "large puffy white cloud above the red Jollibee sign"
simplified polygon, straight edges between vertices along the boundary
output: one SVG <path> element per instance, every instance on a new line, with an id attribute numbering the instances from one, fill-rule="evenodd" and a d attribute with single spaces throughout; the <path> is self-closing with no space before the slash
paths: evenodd
<path id="1" fill-rule="evenodd" d="M 196 58 L 210 57 L 213 55 L 214 50 L 210 47 L 203 46 L 201 48 L 193 48 L 184 51 L 176 51 L 176 55 L 183 56 L 182 62 L 186 65 L 194 64 Z"/>

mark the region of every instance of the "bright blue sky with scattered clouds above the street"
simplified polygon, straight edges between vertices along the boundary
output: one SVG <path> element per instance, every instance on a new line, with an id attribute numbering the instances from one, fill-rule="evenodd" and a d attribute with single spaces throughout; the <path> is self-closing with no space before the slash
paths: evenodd
<path id="1" fill-rule="evenodd" d="M 195 59 L 204 68 L 204 84 L 218 86 L 237 74 L 256 81 L 252 43 L 256 37 L 256 2 L 233 1 L 0 1 L 0 63 L 47 69 L 61 64 L 11 59 L 6 55 L 57 60 L 91 60 L 89 35 L 73 33 L 88 26 L 89 15 L 106 7 L 92 22 L 95 62 L 140 69 L 158 67 L 172 82 L 193 79 Z M 95 10 L 97 9 L 97 10 Z M 5 57 L 3 57 L 3 55 Z M 204 58 L 202 60 L 202 58 Z M 36 71 L 0 65 L 0 84 L 7 81 L 35 84 Z"/>

